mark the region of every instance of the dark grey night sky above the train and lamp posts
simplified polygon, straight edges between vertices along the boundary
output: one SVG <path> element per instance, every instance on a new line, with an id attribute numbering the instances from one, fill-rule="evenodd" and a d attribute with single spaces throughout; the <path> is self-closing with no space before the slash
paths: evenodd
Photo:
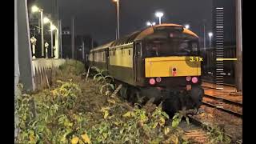
<path id="1" fill-rule="evenodd" d="M 63 26 L 75 16 L 75 34 L 92 34 L 99 44 L 115 39 L 116 6 L 111 0 L 58 0 Z M 38 0 L 46 13 L 54 11 L 54 0 Z M 147 21 L 158 22 L 154 12 L 162 10 L 162 22 L 190 24 L 199 36 L 212 26 L 212 0 L 120 0 L 120 37 L 140 30 Z M 62 26 L 62 27 L 63 27 Z"/>

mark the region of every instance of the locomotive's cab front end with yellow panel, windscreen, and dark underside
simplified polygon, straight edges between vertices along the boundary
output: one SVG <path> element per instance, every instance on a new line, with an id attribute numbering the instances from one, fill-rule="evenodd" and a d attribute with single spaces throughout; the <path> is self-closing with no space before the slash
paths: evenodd
<path id="1" fill-rule="evenodd" d="M 140 97 L 154 98 L 172 112 L 201 106 L 198 36 L 182 26 L 164 24 L 142 31 L 135 40 L 134 83 Z"/>

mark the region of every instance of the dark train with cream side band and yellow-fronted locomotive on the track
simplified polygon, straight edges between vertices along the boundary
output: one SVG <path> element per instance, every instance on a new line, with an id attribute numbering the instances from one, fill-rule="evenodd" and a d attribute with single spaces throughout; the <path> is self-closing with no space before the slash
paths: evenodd
<path id="1" fill-rule="evenodd" d="M 130 102 L 162 102 L 170 111 L 201 105 L 201 62 L 198 35 L 171 23 L 98 46 L 87 60 L 122 83 L 120 94 Z"/>

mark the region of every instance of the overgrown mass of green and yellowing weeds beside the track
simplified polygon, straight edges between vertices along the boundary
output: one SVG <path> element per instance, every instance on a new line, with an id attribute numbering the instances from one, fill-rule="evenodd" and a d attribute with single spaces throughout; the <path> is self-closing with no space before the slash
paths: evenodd
<path id="1" fill-rule="evenodd" d="M 132 107 L 117 96 L 110 97 L 112 77 L 98 70 L 94 79 L 85 82 L 84 71 L 81 62 L 67 61 L 50 89 L 18 97 L 17 143 L 183 142 L 177 129 L 182 115 L 176 114 L 176 123 L 169 126 L 161 106 Z"/>

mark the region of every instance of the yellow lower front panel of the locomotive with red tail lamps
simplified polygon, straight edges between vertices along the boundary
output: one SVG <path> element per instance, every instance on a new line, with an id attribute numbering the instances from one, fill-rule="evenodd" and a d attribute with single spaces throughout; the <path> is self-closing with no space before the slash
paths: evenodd
<path id="1" fill-rule="evenodd" d="M 145 77 L 151 86 L 173 89 L 186 86 L 190 90 L 192 85 L 201 84 L 201 62 L 199 56 L 145 58 Z"/>

